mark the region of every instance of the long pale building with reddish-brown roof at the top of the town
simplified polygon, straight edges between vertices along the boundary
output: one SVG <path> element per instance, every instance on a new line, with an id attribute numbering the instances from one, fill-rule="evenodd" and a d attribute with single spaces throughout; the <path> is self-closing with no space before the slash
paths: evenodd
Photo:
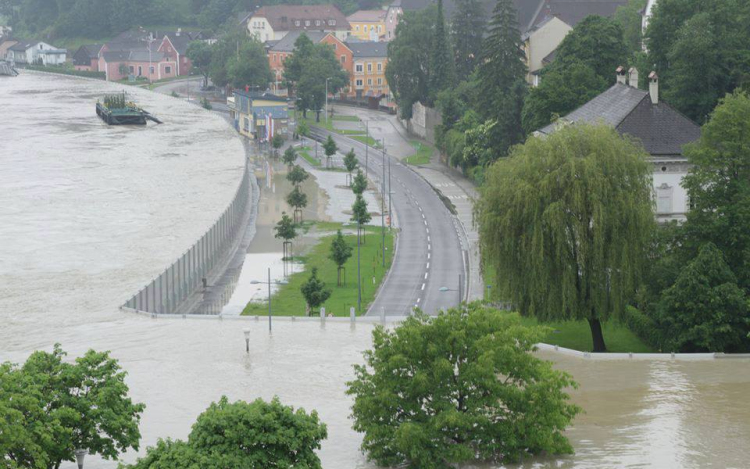
<path id="1" fill-rule="evenodd" d="M 247 30 L 261 41 L 279 40 L 291 31 L 333 33 L 343 41 L 349 22 L 333 5 L 266 5 L 247 19 Z"/>

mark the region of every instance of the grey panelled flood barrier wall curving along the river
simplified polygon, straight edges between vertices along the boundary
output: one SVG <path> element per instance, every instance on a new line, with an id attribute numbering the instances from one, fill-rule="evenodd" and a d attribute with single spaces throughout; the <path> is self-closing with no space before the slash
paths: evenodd
<path id="1" fill-rule="evenodd" d="M 246 161 L 237 193 L 219 219 L 187 252 L 126 301 L 122 308 L 153 314 L 178 313 L 244 234 L 249 194 L 250 171 Z"/>

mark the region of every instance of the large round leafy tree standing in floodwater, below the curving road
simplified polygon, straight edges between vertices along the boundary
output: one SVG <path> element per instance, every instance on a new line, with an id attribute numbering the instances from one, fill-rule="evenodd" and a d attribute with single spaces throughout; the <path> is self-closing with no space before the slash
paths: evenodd
<path id="1" fill-rule="evenodd" d="M 572 453 L 563 431 L 577 384 L 535 357 L 544 328 L 474 303 L 378 327 L 348 383 L 362 449 L 383 466 L 449 468 Z"/>

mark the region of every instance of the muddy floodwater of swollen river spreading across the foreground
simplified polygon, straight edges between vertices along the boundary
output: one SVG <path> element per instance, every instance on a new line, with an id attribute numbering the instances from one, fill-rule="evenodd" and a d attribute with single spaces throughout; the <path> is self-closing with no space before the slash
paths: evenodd
<path id="1" fill-rule="evenodd" d="M 0 80 L 0 361 L 22 362 L 55 342 L 71 357 L 111 350 L 132 396 L 147 405 L 142 447 L 184 438 L 221 395 L 278 395 L 327 423 L 323 467 L 374 469 L 358 449 L 344 394 L 371 325 L 274 319 L 269 334 L 264 318 L 151 319 L 118 310 L 221 213 L 239 183 L 243 148 L 220 118 L 147 92 L 138 101 L 165 125 L 106 127 L 93 102 L 111 89 L 25 73 Z M 250 249 L 259 275 L 278 254 L 263 223 Z M 567 432 L 575 455 L 521 467 L 748 467 L 750 360 L 539 355 L 580 383 L 571 394 L 585 413 Z M 116 464 L 90 457 L 86 467 Z"/>

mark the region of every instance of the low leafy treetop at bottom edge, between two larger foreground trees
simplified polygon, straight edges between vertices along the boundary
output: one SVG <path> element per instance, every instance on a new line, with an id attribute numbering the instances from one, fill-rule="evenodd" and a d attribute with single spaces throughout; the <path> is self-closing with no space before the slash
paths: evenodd
<path id="1" fill-rule="evenodd" d="M 122 469 L 272 467 L 320 469 L 315 450 L 327 438 L 317 412 L 271 402 L 230 403 L 226 397 L 198 416 L 187 442 L 159 440 L 146 456 Z"/>

